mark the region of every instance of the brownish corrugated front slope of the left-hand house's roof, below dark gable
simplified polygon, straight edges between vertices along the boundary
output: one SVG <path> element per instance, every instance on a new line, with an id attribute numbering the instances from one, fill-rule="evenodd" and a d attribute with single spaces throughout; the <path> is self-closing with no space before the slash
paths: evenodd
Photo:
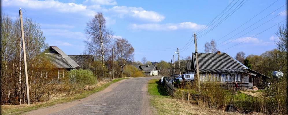
<path id="1" fill-rule="evenodd" d="M 45 53 L 55 68 L 73 69 L 70 64 L 57 53 Z"/>

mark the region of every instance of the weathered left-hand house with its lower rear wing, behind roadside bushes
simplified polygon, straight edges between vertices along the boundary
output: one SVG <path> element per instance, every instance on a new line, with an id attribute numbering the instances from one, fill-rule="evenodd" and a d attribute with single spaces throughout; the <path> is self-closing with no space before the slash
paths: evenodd
<path id="1" fill-rule="evenodd" d="M 66 55 L 57 46 L 50 46 L 44 52 L 51 64 L 55 66 L 55 70 L 58 72 L 57 78 L 64 77 L 64 71 L 74 70 L 74 69 L 89 69 L 92 70 L 94 62 L 93 55 Z M 47 74 L 44 76 L 47 78 Z"/>

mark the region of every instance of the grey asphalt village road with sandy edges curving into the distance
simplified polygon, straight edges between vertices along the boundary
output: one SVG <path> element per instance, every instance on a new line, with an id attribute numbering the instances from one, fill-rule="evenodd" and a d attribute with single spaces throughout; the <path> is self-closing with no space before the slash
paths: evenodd
<path id="1" fill-rule="evenodd" d="M 152 115 L 147 92 L 148 80 L 160 77 L 129 78 L 103 91 L 70 103 L 30 111 L 29 115 Z"/>

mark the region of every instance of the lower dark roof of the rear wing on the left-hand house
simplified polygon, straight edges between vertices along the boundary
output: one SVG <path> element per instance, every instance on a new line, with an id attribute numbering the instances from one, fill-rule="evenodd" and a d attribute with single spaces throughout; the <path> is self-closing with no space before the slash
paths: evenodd
<path id="1" fill-rule="evenodd" d="M 93 55 L 68 55 L 71 59 L 73 59 L 80 68 L 90 69 L 93 68 L 92 64 L 94 62 Z"/>

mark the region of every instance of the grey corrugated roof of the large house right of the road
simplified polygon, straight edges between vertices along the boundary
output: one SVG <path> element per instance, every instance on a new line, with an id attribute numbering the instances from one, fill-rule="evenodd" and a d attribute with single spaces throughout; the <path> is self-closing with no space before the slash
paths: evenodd
<path id="1" fill-rule="evenodd" d="M 192 60 L 196 63 L 195 53 L 192 53 Z M 210 73 L 239 73 L 249 72 L 248 67 L 235 60 L 227 53 L 198 53 L 199 71 Z M 192 69 L 196 68 L 193 64 Z"/>

